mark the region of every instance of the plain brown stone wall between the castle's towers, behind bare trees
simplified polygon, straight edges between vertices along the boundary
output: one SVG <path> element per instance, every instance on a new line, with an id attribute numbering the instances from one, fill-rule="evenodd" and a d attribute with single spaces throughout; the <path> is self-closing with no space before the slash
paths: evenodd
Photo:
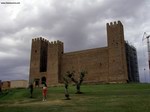
<path id="1" fill-rule="evenodd" d="M 65 53 L 62 58 L 62 74 L 70 70 L 74 70 L 77 77 L 82 70 L 87 71 L 85 82 L 108 82 L 108 49 Z"/>

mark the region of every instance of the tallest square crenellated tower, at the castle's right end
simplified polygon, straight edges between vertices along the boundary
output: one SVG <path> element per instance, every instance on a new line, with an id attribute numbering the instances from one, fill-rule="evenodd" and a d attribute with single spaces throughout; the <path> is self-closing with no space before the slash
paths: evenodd
<path id="1" fill-rule="evenodd" d="M 128 75 L 124 30 L 120 21 L 107 23 L 107 39 L 109 55 L 108 80 L 109 82 L 126 82 Z"/>

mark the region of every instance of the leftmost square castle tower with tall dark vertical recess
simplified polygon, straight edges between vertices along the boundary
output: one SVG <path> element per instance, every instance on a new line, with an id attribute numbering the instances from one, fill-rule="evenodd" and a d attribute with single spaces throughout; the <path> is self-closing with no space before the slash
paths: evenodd
<path id="1" fill-rule="evenodd" d="M 41 37 L 32 39 L 29 81 L 37 86 L 46 82 L 48 43 Z"/>

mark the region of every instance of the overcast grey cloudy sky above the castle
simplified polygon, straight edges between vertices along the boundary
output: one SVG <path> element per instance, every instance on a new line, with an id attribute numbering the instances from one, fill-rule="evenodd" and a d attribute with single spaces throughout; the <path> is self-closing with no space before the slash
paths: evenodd
<path id="1" fill-rule="evenodd" d="M 0 4 L 2 80 L 10 73 L 17 78 L 21 72 L 27 78 L 33 37 L 61 40 L 65 51 L 103 47 L 107 45 L 106 23 L 121 20 L 125 39 L 137 48 L 140 78 L 145 81 L 143 68 L 147 65 L 142 55 L 147 51 L 143 50 L 146 43 L 143 46 L 141 39 L 144 32 L 150 34 L 149 0 L 17 1 L 20 4 Z"/>

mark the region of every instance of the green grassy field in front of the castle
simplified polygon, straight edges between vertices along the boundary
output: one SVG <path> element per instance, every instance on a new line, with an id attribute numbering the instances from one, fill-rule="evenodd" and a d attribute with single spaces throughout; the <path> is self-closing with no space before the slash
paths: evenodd
<path id="1" fill-rule="evenodd" d="M 48 88 L 47 101 L 42 101 L 41 88 L 12 89 L 0 95 L 0 112 L 150 112 L 150 84 L 82 85 L 83 94 L 64 100 L 63 87 Z"/>

